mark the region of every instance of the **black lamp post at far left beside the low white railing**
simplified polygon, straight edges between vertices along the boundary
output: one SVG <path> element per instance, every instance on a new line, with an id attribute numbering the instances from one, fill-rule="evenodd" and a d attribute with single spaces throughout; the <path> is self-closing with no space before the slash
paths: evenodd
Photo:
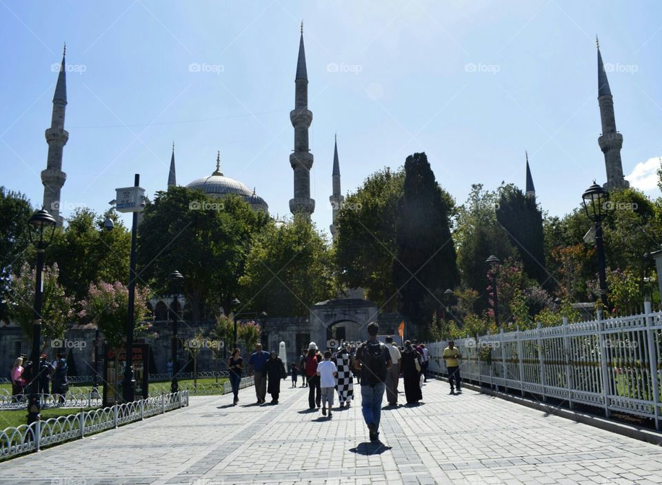
<path id="1" fill-rule="evenodd" d="M 30 397 L 28 398 L 28 424 L 41 419 L 39 399 L 39 353 L 41 350 L 41 273 L 43 252 L 55 233 L 57 221 L 46 210 L 37 210 L 28 219 L 30 242 L 37 247 L 37 270 L 34 281 L 34 319 L 32 320 L 32 367 L 30 370 Z"/>

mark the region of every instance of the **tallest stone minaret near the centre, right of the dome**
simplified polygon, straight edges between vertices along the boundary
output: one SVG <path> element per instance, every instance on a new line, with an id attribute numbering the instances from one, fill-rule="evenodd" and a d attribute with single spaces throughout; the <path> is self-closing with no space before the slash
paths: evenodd
<path id="1" fill-rule="evenodd" d="M 308 110 L 308 73 L 305 70 L 303 50 L 303 22 L 301 22 L 299 60 L 294 85 L 296 86 L 294 110 L 290 111 L 290 121 L 294 126 L 294 152 L 290 155 L 290 165 L 294 170 L 294 198 L 290 199 L 290 212 L 301 213 L 310 219 L 310 215 L 315 210 L 315 201 L 310 198 L 312 153 L 308 148 L 308 127 L 312 123 L 312 112 Z"/>

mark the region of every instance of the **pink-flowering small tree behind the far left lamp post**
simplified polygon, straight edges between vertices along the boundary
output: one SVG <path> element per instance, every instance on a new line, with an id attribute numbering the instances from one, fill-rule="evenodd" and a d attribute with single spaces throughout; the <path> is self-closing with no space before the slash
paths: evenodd
<path id="1" fill-rule="evenodd" d="M 57 264 L 44 266 L 41 306 L 41 337 L 45 345 L 53 339 L 64 337 L 64 330 L 74 318 L 73 301 L 66 295 L 58 283 Z M 20 275 L 14 275 L 9 297 L 9 316 L 23 329 L 28 340 L 32 340 L 32 321 L 34 320 L 34 281 L 36 271 L 28 263 L 21 266 Z"/>

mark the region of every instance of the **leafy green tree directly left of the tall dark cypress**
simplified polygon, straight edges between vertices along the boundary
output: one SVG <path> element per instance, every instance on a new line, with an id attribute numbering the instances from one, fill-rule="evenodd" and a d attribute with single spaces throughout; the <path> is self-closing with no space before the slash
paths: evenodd
<path id="1" fill-rule="evenodd" d="M 363 288 L 368 299 L 394 310 L 397 287 L 392 262 L 396 254 L 397 204 L 403 194 L 403 170 L 380 170 L 348 195 L 339 212 L 334 261 L 339 284 Z"/>

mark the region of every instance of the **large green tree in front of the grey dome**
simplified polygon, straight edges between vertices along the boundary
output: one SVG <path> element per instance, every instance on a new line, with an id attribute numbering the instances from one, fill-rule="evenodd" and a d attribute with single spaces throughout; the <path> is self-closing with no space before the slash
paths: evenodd
<path id="1" fill-rule="evenodd" d="M 254 234 L 267 220 L 239 197 L 213 199 L 185 187 L 157 192 L 139 227 L 139 277 L 168 293 L 168 275 L 178 270 L 193 319 L 219 306 L 229 313 Z"/>

